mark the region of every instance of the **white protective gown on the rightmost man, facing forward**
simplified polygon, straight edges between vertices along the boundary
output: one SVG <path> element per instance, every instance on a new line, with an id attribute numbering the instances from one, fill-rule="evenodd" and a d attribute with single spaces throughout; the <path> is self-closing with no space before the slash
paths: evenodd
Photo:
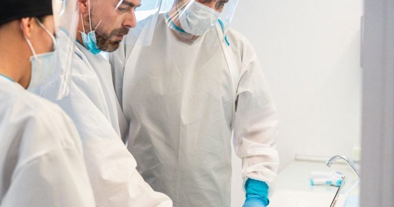
<path id="1" fill-rule="evenodd" d="M 278 119 L 253 46 L 232 29 L 230 46 L 183 42 L 159 18 L 151 46 L 110 57 L 138 172 L 174 206 L 230 206 L 233 130 L 243 180 L 272 190 Z"/>

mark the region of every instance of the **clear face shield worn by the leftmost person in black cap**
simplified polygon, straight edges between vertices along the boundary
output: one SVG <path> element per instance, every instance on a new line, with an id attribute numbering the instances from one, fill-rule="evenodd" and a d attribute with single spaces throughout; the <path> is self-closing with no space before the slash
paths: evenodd
<path id="1" fill-rule="evenodd" d="M 74 53 L 75 34 L 78 23 L 77 0 L 53 0 L 53 18 L 55 34 L 50 32 L 38 19 L 36 22 L 52 38 L 53 51 L 36 54 L 28 38 L 26 41 L 32 51 L 31 79 L 28 90 L 40 95 L 41 83 L 49 78 L 54 71 L 59 71 L 60 84 L 56 94 L 57 99 L 62 99 L 69 94 L 72 70 L 72 57 Z"/>

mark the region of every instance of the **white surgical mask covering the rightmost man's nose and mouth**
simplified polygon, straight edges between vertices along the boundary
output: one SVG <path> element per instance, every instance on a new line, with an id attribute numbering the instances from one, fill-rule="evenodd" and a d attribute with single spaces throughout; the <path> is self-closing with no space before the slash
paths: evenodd
<path id="1" fill-rule="evenodd" d="M 179 23 L 185 32 L 200 36 L 215 26 L 219 15 L 216 10 L 193 1 L 179 14 Z"/>

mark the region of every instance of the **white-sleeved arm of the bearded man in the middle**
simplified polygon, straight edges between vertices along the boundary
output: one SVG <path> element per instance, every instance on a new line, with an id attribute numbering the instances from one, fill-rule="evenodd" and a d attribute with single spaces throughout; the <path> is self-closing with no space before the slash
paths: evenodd
<path id="1" fill-rule="evenodd" d="M 172 206 L 167 195 L 154 191 L 138 174 L 134 157 L 83 88 L 72 82 L 70 96 L 53 101 L 72 118 L 81 136 L 97 206 Z"/>

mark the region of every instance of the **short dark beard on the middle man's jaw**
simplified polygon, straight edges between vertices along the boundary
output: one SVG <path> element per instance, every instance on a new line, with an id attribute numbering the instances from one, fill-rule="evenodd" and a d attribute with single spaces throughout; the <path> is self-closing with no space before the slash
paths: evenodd
<path id="1" fill-rule="evenodd" d="M 96 33 L 96 40 L 97 40 L 97 48 L 106 51 L 106 52 L 113 52 L 119 48 L 120 41 L 111 40 L 111 37 L 114 35 L 126 35 L 129 32 L 128 28 L 120 28 L 114 29 L 110 35 L 106 35 L 108 37 L 103 37 L 102 35 Z"/>

